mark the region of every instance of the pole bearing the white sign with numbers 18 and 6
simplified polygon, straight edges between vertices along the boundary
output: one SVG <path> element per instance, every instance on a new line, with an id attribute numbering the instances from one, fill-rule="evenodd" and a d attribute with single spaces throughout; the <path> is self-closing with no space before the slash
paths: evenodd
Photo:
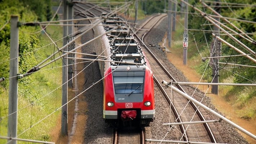
<path id="1" fill-rule="evenodd" d="M 185 0 L 188 2 L 188 0 Z M 185 5 L 184 36 L 183 36 L 183 64 L 187 65 L 188 57 L 188 5 Z"/>

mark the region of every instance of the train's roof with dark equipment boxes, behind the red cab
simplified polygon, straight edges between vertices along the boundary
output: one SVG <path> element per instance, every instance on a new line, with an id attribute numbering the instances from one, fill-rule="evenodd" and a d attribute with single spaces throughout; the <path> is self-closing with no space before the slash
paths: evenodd
<path id="1" fill-rule="evenodd" d="M 104 23 L 111 25 L 105 26 L 105 30 L 116 27 L 113 24 L 117 22 L 117 19 L 121 20 L 116 16 L 106 19 Z M 114 61 L 111 63 L 111 67 L 145 66 L 146 62 L 139 43 L 131 35 L 131 31 L 125 27 L 124 23 L 118 24 L 121 25 L 120 28 L 107 34 L 111 46 L 111 60 Z"/>

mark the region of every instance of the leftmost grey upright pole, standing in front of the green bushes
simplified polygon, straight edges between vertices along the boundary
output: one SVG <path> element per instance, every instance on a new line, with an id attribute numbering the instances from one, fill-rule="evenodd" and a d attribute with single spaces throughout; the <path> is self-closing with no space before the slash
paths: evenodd
<path id="1" fill-rule="evenodd" d="M 18 58 L 19 58 L 19 28 L 18 16 L 11 16 L 10 33 L 10 78 L 9 78 L 9 109 L 8 137 L 17 136 L 18 124 Z M 14 113 L 15 112 L 15 113 Z M 13 113 L 13 114 L 12 114 Z M 17 144 L 16 140 L 10 140 L 9 144 Z"/>

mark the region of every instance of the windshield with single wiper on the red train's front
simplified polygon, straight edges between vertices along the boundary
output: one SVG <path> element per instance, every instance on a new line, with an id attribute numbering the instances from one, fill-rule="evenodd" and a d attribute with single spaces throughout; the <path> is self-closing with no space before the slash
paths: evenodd
<path id="1" fill-rule="evenodd" d="M 142 94 L 145 71 L 113 72 L 116 94 Z"/>

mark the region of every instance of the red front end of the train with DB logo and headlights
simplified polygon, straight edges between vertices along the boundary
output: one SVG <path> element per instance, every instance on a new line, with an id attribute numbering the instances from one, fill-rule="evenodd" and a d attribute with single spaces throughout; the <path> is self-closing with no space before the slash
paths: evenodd
<path id="1" fill-rule="evenodd" d="M 154 120 L 153 74 L 147 66 L 111 66 L 105 72 L 103 118 L 113 127 Z"/>

